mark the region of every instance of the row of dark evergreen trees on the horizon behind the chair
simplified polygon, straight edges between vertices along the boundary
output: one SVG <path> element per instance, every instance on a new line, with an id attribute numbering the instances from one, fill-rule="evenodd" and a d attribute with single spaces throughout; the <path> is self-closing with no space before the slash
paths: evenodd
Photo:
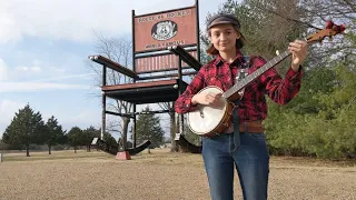
<path id="1" fill-rule="evenodd" d="M 149 107 L 146 108 L 149 110 Z M 151 140 L 151 148 L 159 147 L 164 143 L 164 130 L 160 127 L 159 118 L 155 114 L 142 116 L 138 119 L 137 140 Z M 51 116 L 46 122 L 40 112 L 36 112 L 27 104 L 20 109 L 11 120 L 11 123 L 6 128 L 2 134 L 0 144 L 7 146 L 2 149 L 26 150 L 26 156 L 30 156 L 30 146 L 47 146 L 48 152 L 51 154 L 53 146 L 68 146 L 77 152 L 78 147 L 86 147 L 90 151 L 93 138 L 100 138 L 101 129 L 96 129 L 90 126 L 87 129 L 72 127 L 68 132 L 63 130 L 58 120 Z M 109 133 L 103 133 L 103 140 L 119 148 L 118 141 Z M 119 139 L 120 141 L 121 139 Z"/>

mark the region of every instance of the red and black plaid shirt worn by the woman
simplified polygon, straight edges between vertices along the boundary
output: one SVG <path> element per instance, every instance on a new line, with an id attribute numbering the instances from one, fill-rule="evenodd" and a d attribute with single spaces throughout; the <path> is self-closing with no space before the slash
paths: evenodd
<path id="1" fill-rule="evenodd" d="M 207 86 L 217 86 L 222 91 L 227 91 L 235 83 L 235 77 L 240 70 L 244 57 L 237 51 L 234 62 L 225 62 L 220 56 L 201 67 L 195 76 L 186 91 L 177 99 L 175 110 L 177 113 L 186 113 L 196 109 L 191 104 L 191 98 L 199 90 Z M 248 73 L 266 63 L 261 57 L 251 57 Z M 277 71 L 271 68 L 250 82 L 245 88 L 245 93 L 240 100 L 239 118 L 240 122 L 264 120 L 267 117 L 267 103 L 265 94 L 279 104 L 289 102 L 300 89 L 303 71 L 301 67 L 298 72 L 289 69 L 283 79 Z"/>

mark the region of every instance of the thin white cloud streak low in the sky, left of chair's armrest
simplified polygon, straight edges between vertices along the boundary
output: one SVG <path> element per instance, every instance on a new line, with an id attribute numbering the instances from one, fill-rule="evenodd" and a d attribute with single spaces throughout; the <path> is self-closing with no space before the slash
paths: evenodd
<path id="1" fill-rule="evenodd" d="M 61 84 L 61 83 L 51 83 L 51 82 L 1 82 L 0 84 L 0 93 L 1 92 L 33 92 L 39 90 L 76 90 L 91 89 L 90 86 L 87 84 Z"/>

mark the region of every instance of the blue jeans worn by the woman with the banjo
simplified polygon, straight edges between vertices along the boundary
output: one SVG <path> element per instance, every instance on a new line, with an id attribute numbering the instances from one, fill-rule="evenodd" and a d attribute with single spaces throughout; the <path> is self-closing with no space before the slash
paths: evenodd
<path id="1" fill-rule="evenodd" d="M 264 133 L 240 133 L 234 151 L 234 133 L 202 138 L 202 159 L 212 200 L 234 199 L 234 163 L 245 200 L 267 199 L 269 154 Z"/>

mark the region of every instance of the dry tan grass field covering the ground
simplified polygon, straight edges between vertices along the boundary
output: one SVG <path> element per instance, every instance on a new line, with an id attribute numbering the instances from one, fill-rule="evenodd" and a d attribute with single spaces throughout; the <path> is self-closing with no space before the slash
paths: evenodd
<path id="1" fill-rule="evenodd" d="M 151 150 L 116 160 L 101 151 L 6 153 L 0 199 L 209 199 L 200 154 Z M 235 197 L 241 199 L 238 177 Z M 269 199 L 356 199 L 355 162 L 271 157 Z"/>

